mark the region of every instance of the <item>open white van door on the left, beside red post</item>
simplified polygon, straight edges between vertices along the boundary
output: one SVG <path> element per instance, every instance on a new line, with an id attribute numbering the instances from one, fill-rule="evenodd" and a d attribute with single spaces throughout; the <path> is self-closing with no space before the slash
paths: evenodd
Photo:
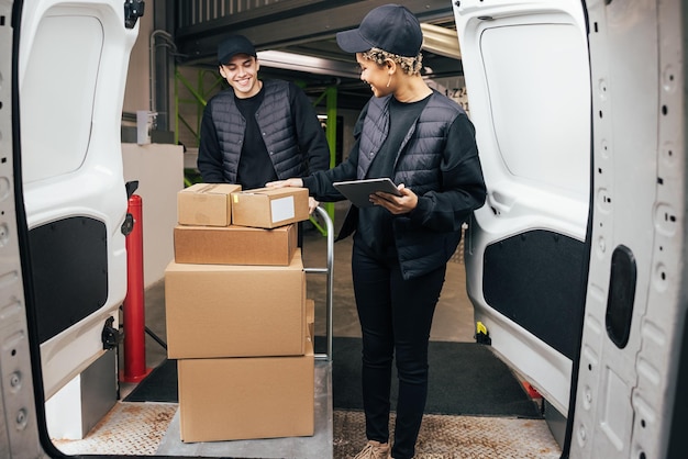
<path id="1" fill-rule="evenodd" d="M 46 400 L 116 346 L 108 340 L 126 294 L 121 113 L 137 34 L 125 4 L 14 4 L 27 284 Z"/>

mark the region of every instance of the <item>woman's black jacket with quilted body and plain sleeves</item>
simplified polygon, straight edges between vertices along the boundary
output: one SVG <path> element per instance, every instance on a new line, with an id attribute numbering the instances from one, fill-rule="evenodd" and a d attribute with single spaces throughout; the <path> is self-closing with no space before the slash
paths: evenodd
<path id="1" fill-rule="evenodd" d="M 315 199 L 342 200 L 333 181 L 366 178 L 390 130 L 389 101 L 390 97 L 370 99 L 356 123 L 356 144 L 345 163 L 304 179 Z M 475 127 L 458 104 L 436 91 L 430 96 L 404 137 L 391 179 L 419 197 L 412 212 L 392 222 L 399 264 L 409 279 L 446 264 L 456 251 L 462 225 L 485 203 Z M 355 208 L 348 212 L 339 238 L 356 229 L 356 214 Z"/>

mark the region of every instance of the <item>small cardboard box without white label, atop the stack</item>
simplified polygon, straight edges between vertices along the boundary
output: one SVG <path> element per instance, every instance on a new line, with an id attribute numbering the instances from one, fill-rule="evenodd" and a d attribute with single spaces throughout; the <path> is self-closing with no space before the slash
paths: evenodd
<path id="1" fill-rule="evenodd" d="M 230 225 L 230 195 L 241 189 L 231 183 L 196 183 L 185 188 L 177 192 L 177 222 L 180 225 Z"/>

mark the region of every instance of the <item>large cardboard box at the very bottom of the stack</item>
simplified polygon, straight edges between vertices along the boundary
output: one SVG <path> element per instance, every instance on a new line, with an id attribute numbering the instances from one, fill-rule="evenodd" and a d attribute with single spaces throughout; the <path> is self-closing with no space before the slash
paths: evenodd
<path id="1" fill-rule="evenodd" d="M 181 440 L 224 441 L 314 434 L 312 342 L 295 357 L 177 361 Z"/>

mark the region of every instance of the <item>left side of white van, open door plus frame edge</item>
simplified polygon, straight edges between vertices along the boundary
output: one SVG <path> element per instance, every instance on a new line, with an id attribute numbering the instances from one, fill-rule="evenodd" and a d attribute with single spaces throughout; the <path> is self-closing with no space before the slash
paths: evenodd
<path id="1" fill-rule="evenodd" d="M 121 116 L 141 3 L 0 1 L 2 458 L 55 451 L 38 441 L 43 401 L 93 362 L 116 379 L 132 227 Z"/>

